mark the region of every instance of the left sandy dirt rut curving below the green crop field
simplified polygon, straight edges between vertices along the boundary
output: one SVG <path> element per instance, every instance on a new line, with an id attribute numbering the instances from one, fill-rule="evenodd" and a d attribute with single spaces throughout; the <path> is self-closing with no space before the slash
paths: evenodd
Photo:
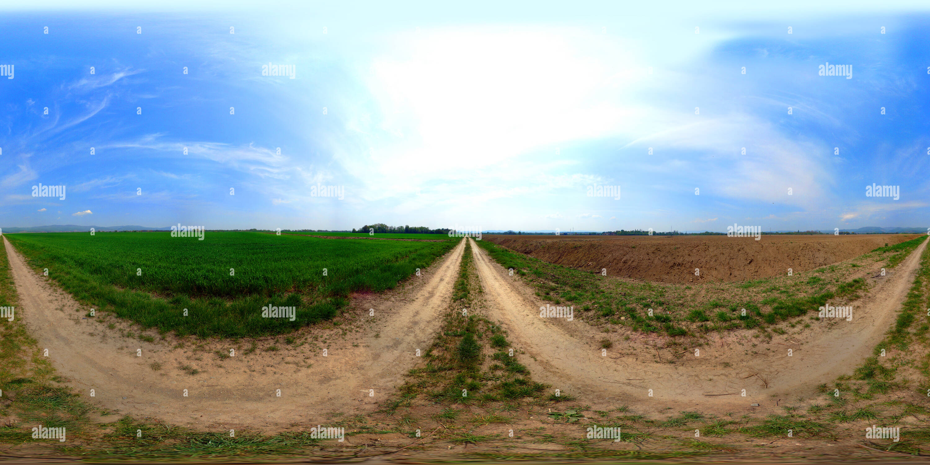
<path id="1" fill-rule="evenodd" d="M 267 339 L 255 352 L 242 348 L 224 357 L 219 354 L 228 353 L 235 341 L 124 337 L 123 330 L 135 328 L 116 318 L 109 320 L 115 327 L 109 327 L 95 321 L 100 315 L 86 317 L 88 309 L 33 272 L 6 239 L 4 243 L 19 293 L 17 316 L 85 400 L 196 428 L 273 431 L 323 423 L 331 412 L 365 413 L 386 399 L 416 364 L 414 352 L 432 342 L 465 248 L 462 241 L 398 289 L 352 299 L 359 306 L 351 315 L 356 325 L 315 330 L 312 334 L 322 340 L 302 347 Z M 375 309 L 374 317 L 369 308 Z M 346 326 L 358 331 L 343 332 Z M 179 342 L 186 345 L 177 347 Z M 313 344 L 320 349 L 313 350 Z M 89 396 L 91 389 L 94 397 Z"/>

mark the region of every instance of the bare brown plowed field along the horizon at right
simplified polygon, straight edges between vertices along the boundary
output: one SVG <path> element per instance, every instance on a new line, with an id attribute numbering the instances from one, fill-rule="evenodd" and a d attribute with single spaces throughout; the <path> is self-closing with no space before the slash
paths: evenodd
<path id="1" fill-rule="evenodd" d="M 663 283 L 745 281 L 803 272 L 919 234 L 554 236 L 486 234 L 485 241 L 551 263 Z M 700 275 L 695 275 L 695 269 Z"/>

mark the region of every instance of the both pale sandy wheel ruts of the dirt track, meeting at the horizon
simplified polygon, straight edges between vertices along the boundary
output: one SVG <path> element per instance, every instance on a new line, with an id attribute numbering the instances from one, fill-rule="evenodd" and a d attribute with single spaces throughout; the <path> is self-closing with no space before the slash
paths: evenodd
<path id="1" fill-rule="evenodd" d="M 654 363 L 647 353 L 651 348 L 642 340 L 631 340 L 628 349 L 645 352 L 618 356 L 622 350 L 613 348 L 602 356 L 596 328 L 580 320 L 540 318 L 538 309 L 546 302 L 536 299 L 519 277 L 509 276 L 471 238 L 467 240 L 472 241 L 475 269 L 484 288 L 485 312 L 502 322 L 514 347 L 525 352 L 521 363 L 530 368 L 534 379 L 591 403 L 661 399 L 662 406 L 722 407 L 762 403 L 773 393 L 810 393 L 817 384 L 830 382 L 860 364 L 894 322 L 926 247 L 924 242 L 857 302 L 852 322 L 831 332 L 811 333 L 817 335 L 815 339 L 798 338 L 803 345 L 790 358 L 746 356 L 743 349 L 731 348 L 719 339 L 701 347 L 699 357 L 688 354 L 671 365 Z M 17 314 L 39 348 L 48 349 L 49 360 L 60 375 L 71 379 L 70 384 L 86 400 L 122 413 L 201 428 L 280 429 L 322 422 L 328 412 L 370 412 L 375 403 L 387 398 L 403 381 L 406 370 L 416 364 L 416 349 L 432 342 L 440 313 L 452 294 L 464 241 L 425 270 L 417 278 L 421 281 L 400 291 L 395 301 L 378 296 L 359 299 L 365 307 L 368 302 L 382 302 L 372 322 L 374 328 L 330 345 L 327 357 L 312 354 L 311 368 L 286 365 L 285 361 L 297 361 L 300 354 L 285 348 L 240 354 L 194 376 L 176 367 L 189 363 L 191 355 L 172 350 L 170 339 L 148 343 L 114 331 L 100 334 L 107 331 L 84 319 L 84 311 L 77 312 L 80 306 L 70 295 L 33 272 L 7 241 L 5 246 L 19 293 Z M 372 334 L 375 331 L 379 338 Z M 223 343 L 211 342 L 210 349 Z M 352 347 L 353 343 L 359 347 Z M 136 356 L 137 349 L 142 349 L 141 357 Z M 210 352 L 203 356 L 213 357 Z M 735 369 L 720 370 L 724 361 Z M 163 369 L 153 371 L 149 366 L 153 362 Z M 746 377 L 752 372 L 758 372 L 768 386 Z M 367 390 L 374 388 L 386 389 L 369 397 Z M 95 389 L 96 397 L 87 395 L 90 389 Z M 184 389 L 188 397 L 182 396 Z M 275 395 L 277 389 L 282 390 L 281 397 Z M 742 389 L 747 390 L 746 397 L 706 396 Z M 648 390 L 653 390 L 652 398 Z"/>

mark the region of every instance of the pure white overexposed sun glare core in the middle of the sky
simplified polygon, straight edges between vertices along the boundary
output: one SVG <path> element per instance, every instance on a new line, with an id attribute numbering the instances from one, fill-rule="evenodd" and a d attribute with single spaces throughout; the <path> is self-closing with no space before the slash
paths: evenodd
<path id="1" fill-rule="evenodd" d="M 492 165 L 531 147 L 615 133 L 631 115 L 598 99 L 603 87 L 646 76 L 644 67 L 629 73 L 637 65 L 630 46 L 582 30 L 448 28 L 396 45 L 373 63 L 370 86 L 385 127 L 421 140 L 422 152 L 408 156 L 447 160 L 417 166 L 457 166 L 459 155 Z"/>

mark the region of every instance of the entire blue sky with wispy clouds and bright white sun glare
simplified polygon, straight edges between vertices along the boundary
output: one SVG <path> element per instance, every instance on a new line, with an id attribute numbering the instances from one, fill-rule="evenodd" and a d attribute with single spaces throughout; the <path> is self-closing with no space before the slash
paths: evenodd
<path id="1" fill-rule="evenodd" d="M 925 3 L 693 3 L 6 2 L 0 227 L 930 226 Z"/>

